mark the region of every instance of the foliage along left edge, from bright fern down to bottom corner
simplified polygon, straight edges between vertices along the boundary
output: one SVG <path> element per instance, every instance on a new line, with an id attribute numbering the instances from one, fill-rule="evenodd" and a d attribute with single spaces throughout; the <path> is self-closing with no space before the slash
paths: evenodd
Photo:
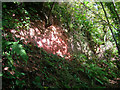
<path id="1" fill-rule="evenodd" d="M 20 88 L 25 86 L 25 81 L 18 79 L 20 77 L 23 77 L 25 74 L 16 70 L 14 63 L 16 62 L 16 59 L 27 63 L 28 56 L 26 54 L 26 51 L 24 50 L 23 46 L 19 44 L 19 42 L 6 41 L 5 39 L 2 40 L 2 46 L 4 57 L 3 63 L 6 64 L 3 66 L 3 68 L 8 67 L 10 70 L 8 72 L 3 71 L 3 79 L 6 78 L 8 80 L 11 80 L 11 83 L 9 84 L 16 84 L 16 86 Z M 14 88 L 14 86 L 12 87 Z"/>

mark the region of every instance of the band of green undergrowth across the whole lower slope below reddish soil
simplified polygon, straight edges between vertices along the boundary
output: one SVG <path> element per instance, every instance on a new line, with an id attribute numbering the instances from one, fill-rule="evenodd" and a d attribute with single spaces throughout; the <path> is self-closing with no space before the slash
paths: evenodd
<path id="1" fill-rule="evenodd" d="M 105 60 L 99 61 L 99 63 L 87 62 L 86 56 L 81 54 L 80 57 L 75 57 L 69 62 L 37 47 L 35 47 L 37 50 L 35 52 L 30 50 L 30 46 L 25 48 L 25 45 L 21 43 L 4 41 L 4 39 L 3 42 L 5 42 L 3 50 L 9 51 L 3 51 L 5 52 L 3 54 L 3 86 L 7 88 L 103 88 L 109 83 L 109 79 L 114 79 L 119 74 L 116 66 Z M 16 55 L 12 53 L 12 50 L 8 50 L 14 45 L 19 48 L 14 49 Z M 38 70 L 24 70 L 27 64 L 27 58 L 25 58 L 27 56 L 25 55 L 28 52 L 39 53 L 40 58 L 32 56 L 32 58 L 36 58 L 36 60 L 32 59 L 32 64 L 35 63 Z M 22 62 L 23 68 L 13 65 L 18 61 Z M 8 70 L 5 70 L 7 68 Z"/>

